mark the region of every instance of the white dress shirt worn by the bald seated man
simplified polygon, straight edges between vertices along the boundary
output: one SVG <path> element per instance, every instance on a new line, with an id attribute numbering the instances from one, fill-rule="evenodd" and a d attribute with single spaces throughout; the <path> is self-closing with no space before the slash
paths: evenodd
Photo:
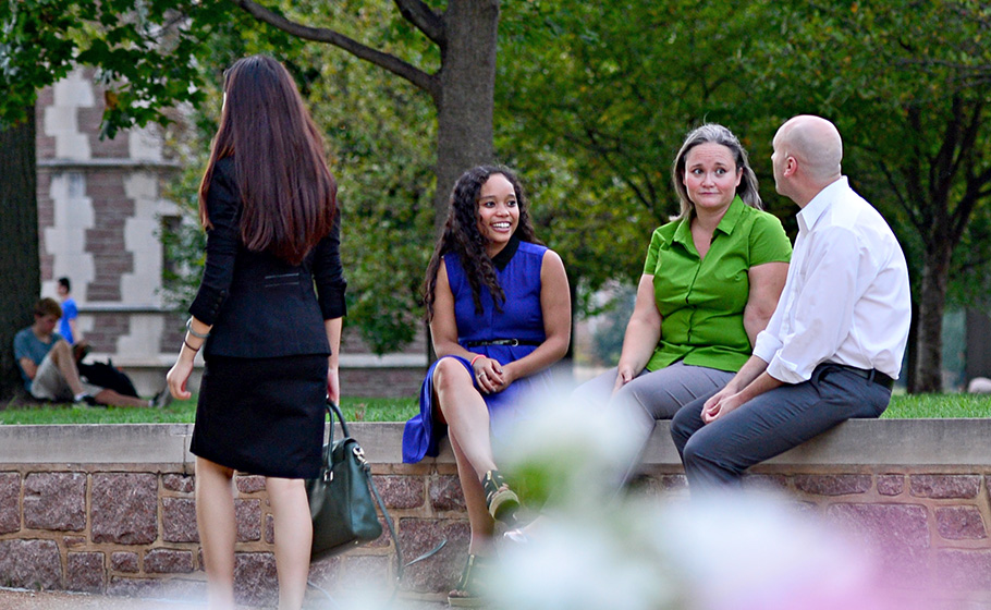
<path id="1" fill-rule="evenodd" d="M 897 379 L 910 318 L 902 247 L 842 176 L 798 212 L 787 280 L 754 355 L 785 383 L 807 381 L 824 362 Z"/>

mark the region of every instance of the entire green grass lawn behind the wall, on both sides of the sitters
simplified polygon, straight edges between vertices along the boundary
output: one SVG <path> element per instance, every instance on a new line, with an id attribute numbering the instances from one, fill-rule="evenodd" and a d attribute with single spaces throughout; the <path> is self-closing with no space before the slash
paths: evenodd
<path id="1" fill-rule="evenodd" d="M 405 422 L 418 411 L 408 399 L 345 398 L 341 404 L 348 422 Z M 78 408 L 44 405 L 0 410 L 0 425 L 8 424 L 169 424 L 191 423 L 196 400 L 175 401 L 167 408 Z M 991 396 L 975 394 L 895 394 L 884 418 L 991 417 Z"/>

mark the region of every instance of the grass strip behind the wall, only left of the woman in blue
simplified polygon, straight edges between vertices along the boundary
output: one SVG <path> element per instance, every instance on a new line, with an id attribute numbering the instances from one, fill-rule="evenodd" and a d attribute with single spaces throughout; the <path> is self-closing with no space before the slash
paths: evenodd
<path id="1" fill-rule="evenodd" d="M 345 398 L 341 410 L 347 422 L 405 422 L 419 406 L 415 399 Z M 0 425 L 8 424 L 184 424 L 196 416 L 196 396 L 173 401 L 166 408 L 75 407 L 74 405 L 32 406 L 0 411 Z"/>

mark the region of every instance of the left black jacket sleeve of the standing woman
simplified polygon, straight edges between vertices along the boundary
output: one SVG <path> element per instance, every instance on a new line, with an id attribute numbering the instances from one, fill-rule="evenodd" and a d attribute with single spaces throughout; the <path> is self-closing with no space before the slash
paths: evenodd
<path id="1" fill-rule="evenodd" d="M 207 230 L 207 255 L 203 280 L 189 313 L 212 326 L 234 279 L 234 259 L 241 243 L 241 197 L 229 171 L 232 162 L 218 161 L 207 193 L 207 213 L 213 224 Z"/>

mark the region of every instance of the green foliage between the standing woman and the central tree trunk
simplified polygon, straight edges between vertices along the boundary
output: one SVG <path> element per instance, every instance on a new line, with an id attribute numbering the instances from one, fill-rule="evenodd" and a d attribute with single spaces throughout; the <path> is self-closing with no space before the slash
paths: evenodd
<path id="1" fill-rule="evenodd" d="M 404 41 L 389 22 L 379 26 L 376 13 L 354 19 L 358 23 L 339 23 L 386 37 L 383 45 Z M 417 331 L 419 289 L 433 247 L 433 107 L 412 85 L 335 49 L 311 47 L 302 61 L 320 66 L 309 103 L 334 158 L 347 324 L 374 352 L 394 351 Z"/>

